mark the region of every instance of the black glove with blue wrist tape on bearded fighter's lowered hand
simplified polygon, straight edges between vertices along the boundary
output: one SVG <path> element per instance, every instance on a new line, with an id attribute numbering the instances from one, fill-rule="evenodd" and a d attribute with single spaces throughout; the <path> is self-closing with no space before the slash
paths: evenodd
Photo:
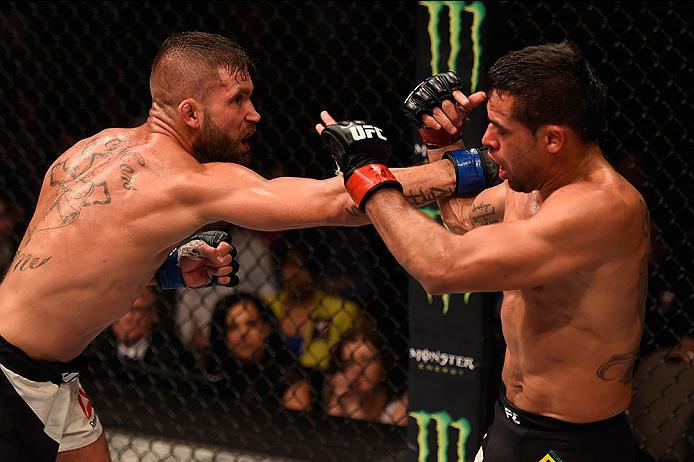
<path id="1" fill-rule="evenodd" d="M 207 285 L 200 287 L 234 287 L 239 284 L 239 278 L 236 276 L 236 272 L 239 270 L 239 264 L 236 262 L 237 252 L 236 247 L 231 243 L 231 237 L 224 231 L 204 231 L 186 238 L 178 247 L 169 253 L 169 256 L 166 257 L 166 260 L 154 275 L 159 287 L 162 289 L 181 289 L 188 287 L 183 280 L 183 274 L 181 273 L 181 268 L 178 266 L 178 262 L 183 257 L 202 258 L 197 250 L 197 246 L 200 245 L 201 242 L 215 248 L 222 242 L 229 243 L 229 245 L 231 245 L 230 254 L 233 261 L 231 274 L 227 275 L 227 277 L 231 279 L 228 284 L 220 284 L 217 276 L 210 276 Z"/>

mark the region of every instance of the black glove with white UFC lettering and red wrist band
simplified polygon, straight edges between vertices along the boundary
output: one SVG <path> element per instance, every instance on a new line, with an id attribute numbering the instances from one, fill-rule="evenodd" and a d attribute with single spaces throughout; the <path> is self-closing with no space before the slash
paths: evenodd
<path id="1" fill-rule="evenodd" d="M 325 127 L 321 140 L 342 171 L 345 189 L 362 212 L 366 201 L 379 189 L 402 191 L 402 185 L 385 166 L 390 143 L 380 128 L 361 120 L 338 122 Z"/>

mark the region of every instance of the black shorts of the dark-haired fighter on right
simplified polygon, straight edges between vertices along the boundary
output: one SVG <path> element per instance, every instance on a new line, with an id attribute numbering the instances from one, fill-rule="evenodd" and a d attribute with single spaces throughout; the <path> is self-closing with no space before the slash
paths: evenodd
<path id="1" fill-rule="evenodd" d="M 624 413 L 575 424 L 514 407 L 502 391 L 475 462 L 634 462 Z"/>

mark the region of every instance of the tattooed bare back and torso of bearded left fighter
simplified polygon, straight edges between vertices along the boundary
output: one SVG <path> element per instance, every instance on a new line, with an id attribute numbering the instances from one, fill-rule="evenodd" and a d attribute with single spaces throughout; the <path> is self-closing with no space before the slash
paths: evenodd
<path id="1" fill-rule="evenodd" d="M 195 162 L 156 147 L 142 129 L 105 130 L 51 165 L 0 285 L 0 335 L 36 359 L 74 358 L 202 225 L 166 193 L 167 172 Z"/>

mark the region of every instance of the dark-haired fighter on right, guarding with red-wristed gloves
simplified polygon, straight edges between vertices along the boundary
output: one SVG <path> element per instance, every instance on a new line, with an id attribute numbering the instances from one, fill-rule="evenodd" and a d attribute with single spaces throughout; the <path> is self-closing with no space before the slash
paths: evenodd
<path id="1" fill-rule="evenodd" d="M 379 165 L 387 141 L 360 145 L 349 130 L 358 122 L 324 117 L 317 129 L 347 190 L 365 197 L 360 206 L 428 292 L 504 292 L 504 387 L 475 460 L 633 461 L 624 411 L 643 329 L 650 221 L 598 145 L 604 86 L 566 43 L 509 53 L 487 85 L 468 98 L 455 75 L 442 74 L 406 100 L 425 141 L 439 146 L 459 136 L 470 100 L 487 100 L 482 143 L 505 181 L 440 201 L 461 235 L 412 208 L 392 180 L 368 194 L 356 173 L 375 164 L 387 176 Z M 444 151 L 469 192 L 481 166 L 466 151 Z M 433 150 L 432 160 L 441 154 Z"/>

